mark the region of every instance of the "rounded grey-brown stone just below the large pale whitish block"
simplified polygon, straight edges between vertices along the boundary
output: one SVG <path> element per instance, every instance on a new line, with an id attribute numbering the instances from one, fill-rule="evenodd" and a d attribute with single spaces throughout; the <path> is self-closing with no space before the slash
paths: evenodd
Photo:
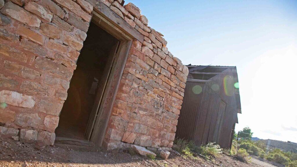
<path id="1" fill-rule="evenodd" d="M 20 113 L 15 118 L 15 124 L 20 127 L 35 127 L 41 124 L 42 120 L 37 113 Z"/>

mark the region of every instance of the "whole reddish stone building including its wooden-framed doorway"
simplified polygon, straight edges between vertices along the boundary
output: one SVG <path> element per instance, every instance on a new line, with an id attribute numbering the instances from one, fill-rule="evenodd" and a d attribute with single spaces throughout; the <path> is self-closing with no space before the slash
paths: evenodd
<path id="1" fill-rule="evenodd" d="M 0 136 L 171 147 L 188 68 L 123 0 L 0 0 Z"/>

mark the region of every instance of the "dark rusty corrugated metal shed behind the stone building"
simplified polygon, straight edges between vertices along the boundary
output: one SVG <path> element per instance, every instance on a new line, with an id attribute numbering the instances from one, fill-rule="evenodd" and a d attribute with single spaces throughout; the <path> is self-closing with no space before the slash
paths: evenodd
<path id="1" fill-rule="evenodd" d="M 184 92 L 176 136 L 197 145 L 215 142 L 230 148 L 241 113 L 236 67 L 192 66 Z"/>

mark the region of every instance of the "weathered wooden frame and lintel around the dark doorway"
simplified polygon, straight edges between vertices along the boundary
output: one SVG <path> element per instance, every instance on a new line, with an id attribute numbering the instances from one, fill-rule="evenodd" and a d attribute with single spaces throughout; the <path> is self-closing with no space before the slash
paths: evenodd
<path id="1" fill-rule="evenodd" d="M 87 1 L 94 6 L 92 22 L 120 41 L 90 137 L 91 142 L 102 146 L 132 41 L 136 39 L 143 42 L 144 37 L 102 2 Z"/>

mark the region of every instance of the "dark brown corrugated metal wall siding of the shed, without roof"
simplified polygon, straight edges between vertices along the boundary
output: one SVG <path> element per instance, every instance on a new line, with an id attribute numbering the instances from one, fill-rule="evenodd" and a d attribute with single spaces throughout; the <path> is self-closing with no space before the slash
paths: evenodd
<path id="1" fill-rule="evenodd" d="M 205 84 L 204 91 L 198 96 L 192 93 L 192 86 L 198 83 L 187 82 L 176 136 L 193 140 L 197 145 L 217 142 L 222 148 L 229 148 L 233 125 L 237 122 L 233 69 L 209 80 L 211 82 L 201 83 Z M 215 86 L 219 89 L 216 90 Z M 195 100 L 191 98 L 197 97 L 200 105 L 192 103 Z"/>

